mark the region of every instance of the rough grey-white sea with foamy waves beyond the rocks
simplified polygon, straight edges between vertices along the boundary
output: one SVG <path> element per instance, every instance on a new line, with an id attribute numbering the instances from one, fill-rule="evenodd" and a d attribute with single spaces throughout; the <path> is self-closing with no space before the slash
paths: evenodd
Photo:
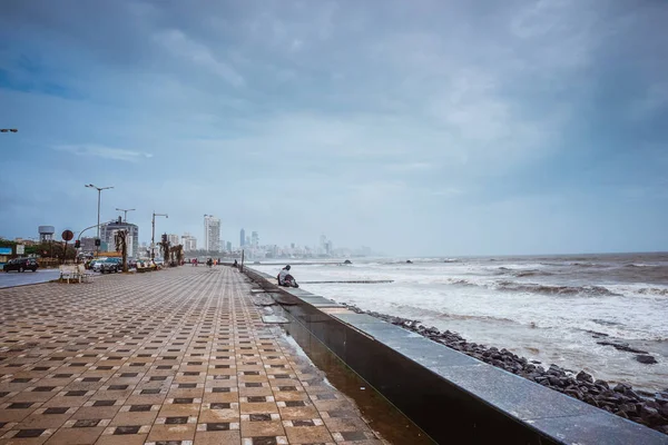
<path id="1" fill-rule="evenodd" d="M 291 271 L 311 293 L 418 319 L 546 368 L 668 388 L 668 253 L 351 260 L 294 260 Z M 277 275 L 283 265 L 250 267 Z M 379 280 L 391 283 L 343 283 Z M 605 342 L 658 363 L 641 364 Z"/>

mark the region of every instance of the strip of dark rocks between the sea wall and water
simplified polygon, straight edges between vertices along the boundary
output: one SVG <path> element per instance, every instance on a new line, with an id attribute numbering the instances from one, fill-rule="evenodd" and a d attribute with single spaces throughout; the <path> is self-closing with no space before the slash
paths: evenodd
<path id="1" fill-rule="evenodd" d="M 441 332 L 435 327 L 426 327 L 419 320 L 362 310 L 353 305 L 344 306 L 357 314 L 366 314 L 401 326 L 404 329 L 418 333 L 452 349 L 478 358 L 481 362 L 528 378 L 539 385 L 547 386 L 550 389 L 606 409 L 620 417 L 668 434 L 668 388 L 651 394 L 644 390 L 635 390 L 630 385 L 621 383 L 612 387 L 608 382 L 595 379 L 583 370 L 574 373 L 557 365 L 550 365 L 548 369 L 544 369 L 542 366 L 539 366 L 540 362 L 528 360 L 507 349 L 469 343 L 459 334 L 451 333 L 450 330 Z"/>

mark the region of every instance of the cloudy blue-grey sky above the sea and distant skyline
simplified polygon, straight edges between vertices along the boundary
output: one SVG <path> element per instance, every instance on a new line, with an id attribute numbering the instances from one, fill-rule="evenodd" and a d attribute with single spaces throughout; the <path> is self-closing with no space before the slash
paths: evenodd
<path id="1" fill-rule="evenodd" d="M 0 236 L 668 250 L 668 3 L 7 0 Z M 202 243 L 202 241 L 200 241 Z"/>

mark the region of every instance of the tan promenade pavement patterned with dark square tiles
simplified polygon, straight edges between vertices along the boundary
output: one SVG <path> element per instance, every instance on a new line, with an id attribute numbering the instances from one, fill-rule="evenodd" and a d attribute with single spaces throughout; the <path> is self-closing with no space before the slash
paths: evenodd
<path id="1" fill-rule="evenodd" d="M 0 445 L 381 444 L 236 269 L 0 289 Z"/>

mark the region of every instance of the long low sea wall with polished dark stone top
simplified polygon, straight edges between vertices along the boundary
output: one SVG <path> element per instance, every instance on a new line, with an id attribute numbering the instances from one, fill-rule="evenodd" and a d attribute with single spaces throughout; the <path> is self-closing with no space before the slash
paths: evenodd
<path id="1" fill-rule="evenodd" d="M 668 444 L 668 436 L 302 289 L 246 275 L 438 443 Z M 302 345 L 307 347 L 308 345 Z"/>

